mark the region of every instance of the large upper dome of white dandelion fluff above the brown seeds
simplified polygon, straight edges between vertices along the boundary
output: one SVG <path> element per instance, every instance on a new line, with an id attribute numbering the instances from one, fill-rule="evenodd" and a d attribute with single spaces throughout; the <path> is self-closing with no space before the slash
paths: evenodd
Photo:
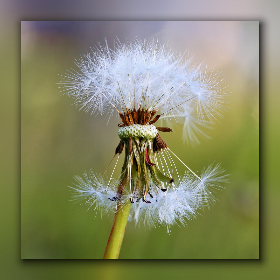
<path id="1" fill-rule="evenodd" d="M 190 143 L 205 138 L 203 129 L 225 109 L 228 94 L 219 72 L 154 41 L 136 40 L 114 50 L 99 46 L 76 64 L 78 71 L 67 73 L 60 84 L 80 109 L 112 114 L 138 109 L 144 99 L 146 109 L 182 122 Z"/>

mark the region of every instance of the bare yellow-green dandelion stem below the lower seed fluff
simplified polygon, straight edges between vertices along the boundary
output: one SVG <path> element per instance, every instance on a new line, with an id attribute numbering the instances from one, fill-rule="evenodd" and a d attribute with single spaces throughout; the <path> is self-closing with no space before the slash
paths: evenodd
<path id="1" fill-rule="evenodd" d="M 124 206 L 121 207 L 120 204 L 117 206 L 113 227 L 103 257 L 104 259 L 118 258 L 129 217 L 130 207 L 131 203 L 129 200 Z"/>

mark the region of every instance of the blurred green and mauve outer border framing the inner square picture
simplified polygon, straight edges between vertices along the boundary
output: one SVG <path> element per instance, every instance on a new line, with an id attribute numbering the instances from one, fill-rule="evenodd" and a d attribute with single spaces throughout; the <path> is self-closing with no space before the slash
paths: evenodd
<path id="1" fill-rule="evenodd" d="M 0 1 L 0 268 L 4 279 L 277 279 L 279 276 L 280 2 L 275 0 Z M 21 259 L 21 20 L 260 21 L 260 259 Z M 102 38 L 101 38 L 102 39 Z M 68 63 L 68 61 L 67 61 Z M 63 68 L 65 69 L 65 67 Z M 77 172 L 75 171 L 75 174 Z M 211 209 L 214 210 L 214 208 Z M 209 211 L 209 212 L 211 212 Z M 198 220 L 197 220 L 198 221 Z M 144 272 L 143 272 L 144 270 Z"/>

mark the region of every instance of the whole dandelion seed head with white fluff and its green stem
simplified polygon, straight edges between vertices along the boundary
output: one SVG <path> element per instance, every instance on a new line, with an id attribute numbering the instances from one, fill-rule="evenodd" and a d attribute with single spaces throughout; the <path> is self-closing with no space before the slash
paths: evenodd
<path id="1" fill-rule="evenodd" d="M 76 176 L 72 188 L 74 199 L 115 212 L 104 258 L 118 258 L 128 220 L 149 227 L 165 225 L 169 231 L 213 203 L 214 189 L 227 181 L 224 170 L 211 164 L 198 176 L 162 139 L 172 130 L 156 122 L 170 126 L 173 120 L 180 121 L 183 139 L 198 142 L 222 116 L 227 93 L 219 72 L 147 40 L 119 44 L 114 50 L 106 42 L 76 64 L 79 71 L 69 72 L 61 81 L 66 94 L 86 112 L 115 113 L 121 120 L 113 157 L 117 156 L 116 167 L 124 152 L 119 178 L 113 178 L 115 167 L 108 177 L 90 171 L 84 178 Z M 186 168 L 184 175 L 178 174 L 174 159 Z"/>

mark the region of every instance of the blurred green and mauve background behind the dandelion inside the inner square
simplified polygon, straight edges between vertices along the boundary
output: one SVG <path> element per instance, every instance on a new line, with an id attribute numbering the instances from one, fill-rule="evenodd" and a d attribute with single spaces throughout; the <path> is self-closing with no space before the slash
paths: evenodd
<path id="1" fill-rule="evenodd" d="M 117 118 L 79 111 L 59 91 L 66 69 L 106 37 L 109 47 L 138 39 L 167 42 L 225 76 L 230 92 L 224 119 L 211 139 L 195 147 L 182 127 L 164 135 L 169 148 L 194 171 L 222 162 L 230 184 L 216 192 L 210 211 L 186 227 L 129 223 L 119 258 L 259 258 L 259 22 L 258 21 L 22 21 L 21 22 L 21 258 L 102 258 L 113 214 L 73 204 L 74 175 L 102 172 L 118 140 Z M 116 38 L 117 37 L 117 38 Z M 122 155 L 123 156 L 123 155 Z M 118 166 L 115 174 L 120 173 Z M 179 173 L 185 169 L 177 164 Z M 111 169 L 113 166 L 110 167 Z M 109 173 L 110 169 L 109 168 Z"/>

